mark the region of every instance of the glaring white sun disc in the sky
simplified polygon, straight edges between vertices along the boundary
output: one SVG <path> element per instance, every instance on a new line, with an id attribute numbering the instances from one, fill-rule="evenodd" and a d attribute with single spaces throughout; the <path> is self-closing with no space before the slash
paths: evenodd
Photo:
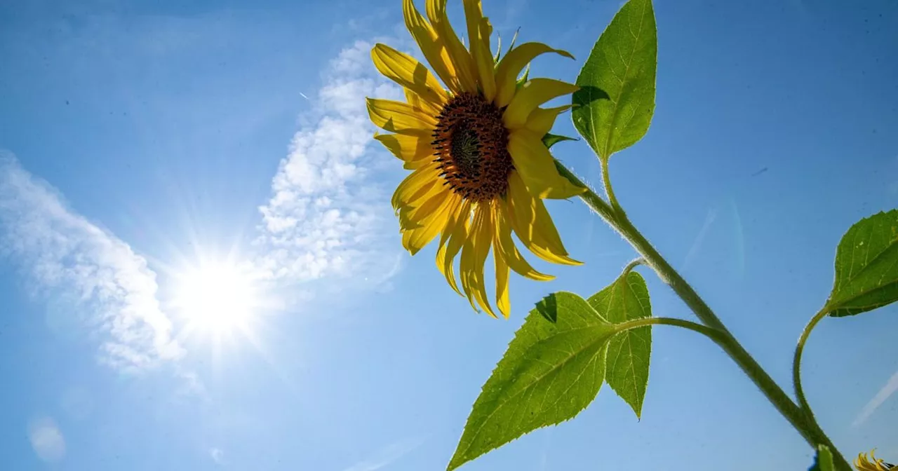
<path id="1" fill-rule="evenodd" d="M 233 263 L 206 263 L 177 276 L 174 307 L 189 331 L 229 335 L 247 332 L 260 299 L 252 277 Z"/>

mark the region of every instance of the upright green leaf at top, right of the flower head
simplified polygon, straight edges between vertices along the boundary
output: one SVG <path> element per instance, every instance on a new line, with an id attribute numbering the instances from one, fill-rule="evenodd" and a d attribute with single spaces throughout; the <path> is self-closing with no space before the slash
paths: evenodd
<path id="1" fill-rule="evenodd" d="M 586 59 L 573 95 L 577 132 L 603 160 L 636 144 L 655 111 L 658 39 L 651 0 L 629 0 Z"/>

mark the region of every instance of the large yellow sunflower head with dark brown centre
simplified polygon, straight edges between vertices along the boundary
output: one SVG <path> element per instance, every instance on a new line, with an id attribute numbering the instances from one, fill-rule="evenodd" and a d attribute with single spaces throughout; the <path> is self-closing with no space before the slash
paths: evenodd
<path id="1" fill-rule="evenodd" d="M 404 0 L 405 24 L 427 66 L 383 44 L 371 51 L 377 70 L 399 83 L 406 101 L 367 100 L 374 125 L 393 134 L 374 135 L 412 170 L 392 196 L 402 245 L 412 255 L 439 236 L 436 266 L 449 285 L 496 317 L 490 307 L 484 265 L 493 251 L 496 303 L 507 318 L 509 269 L 548 281 L 515 247 L 552 263 L 580 265 L 568 257 L 543 198 L 568 198 L 585 191 L 559 174 L 542 144 L 559 113 L 545 102 L 577 91 L 548 78 L 519 80 L 534 57 L 565 51 L 528 42 L 512 46 L 501 59 L 492 55 L 492 26 L 480 0 L 463 0 L 468 47 L 446 17 L 446 0 L 427 0 L 425 19 Z M 573 57 L 571 57 L 573 58 Z M 444 86 L 445 85 L 445 86 Z M 460 256 L 462 291 L 453 272 Z M 475 304 L 476 302 L 476 304 Z"/>

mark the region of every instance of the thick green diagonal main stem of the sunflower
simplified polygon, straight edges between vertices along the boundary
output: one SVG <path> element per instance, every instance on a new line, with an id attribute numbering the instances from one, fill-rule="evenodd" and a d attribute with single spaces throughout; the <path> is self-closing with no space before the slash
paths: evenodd
<path id="1" fill-rule="evenodd" d="M 755 386 L 761 389 L 761 392 L 770 401 L 779 414 L 788 420 L 788 422 L 801 434 L 811 447 L 817 448 L 817 445 L 823 444 L 832 450 L 833 462 L 836 469 L 840 471 L 851 471 L 848 461 L 841 456 L 841 453 L 832 444 L 832 441 L 823 433 L 819 425 L 810 420 L 802 407 L 796 405 L 782 388 L 774 381 L 767 371 L 754 360 L 752 355 L 735 339 L 730 331 L 720 321 L 718 316 L 711 310 L 707 303 L 701 299 L 699 294 L 692 289 L 691 285 L 683 279 L 673 266 L 671 266 L 664 257 L 652 246 L 645 236 L 640 233 L 633 223 L 629 221 L 626 214 L 620 209 L 620 205 L 616 205 L 611 179 L 608 177 L 608 163 L 602 161 L 602 175 L 605 190 L 612 205 L 606 203 L 601 196 L 589 188 L 585 183 L 578 179 L 573 172 L 568 170 L 564 165 L 556 162 L 559 172 L 571 183 L 586 188 L 585 193 L 580 195 L 581 199 L 592 208 L 596 214 L 599 214 L 605 222 L 612 226 L 615 231 L 621 234 L 629 244 L 636 249 L 645 265 L 650 266 L 658 277 L 666 283 L 674 292 L 682 299 L 682 301 L 692 310 L 697 318 L 705 327 L 709 327 L 708 332 L 714 332 L 712 337 L 714 341 L 720 345 L 724 352 L 742 369 L 749 379 L 752 379 Z M 682 326 L 681 326 L 682 327 Z M 703 332 L 704 333 L 704 332 Z M 707 334 L 706 334 L 707 335 Z"/>

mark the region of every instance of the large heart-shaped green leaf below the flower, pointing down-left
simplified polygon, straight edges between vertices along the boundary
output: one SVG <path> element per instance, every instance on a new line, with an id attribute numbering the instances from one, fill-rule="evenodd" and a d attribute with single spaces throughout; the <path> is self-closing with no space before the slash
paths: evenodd
<path id="1" fill-rule="evenodd" d="M 614 332 L 577 294 L 540 301 L 483 385 L 448 469 L 585 409 L 602 387 Z"/>

